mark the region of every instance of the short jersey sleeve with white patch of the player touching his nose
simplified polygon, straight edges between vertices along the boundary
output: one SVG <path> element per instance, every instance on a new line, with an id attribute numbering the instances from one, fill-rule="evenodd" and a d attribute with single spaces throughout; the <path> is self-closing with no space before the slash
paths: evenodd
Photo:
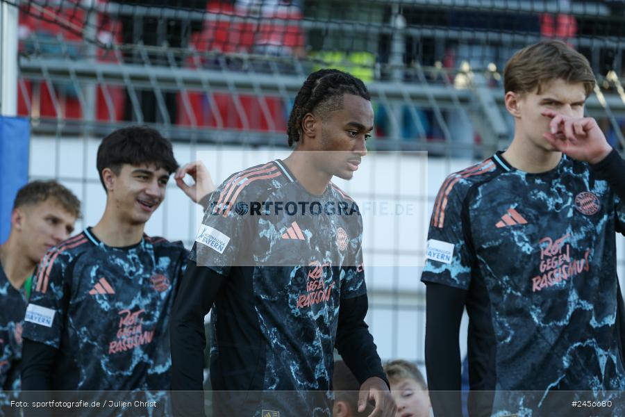
<path id="1" fill-rule="evenodd" d="M 466 232 L 468 215 L 463 213 L 467 187 L 455 177 L 444 181 L 434 202 L 421 280 L 466 290 L 474 254 Z"/>

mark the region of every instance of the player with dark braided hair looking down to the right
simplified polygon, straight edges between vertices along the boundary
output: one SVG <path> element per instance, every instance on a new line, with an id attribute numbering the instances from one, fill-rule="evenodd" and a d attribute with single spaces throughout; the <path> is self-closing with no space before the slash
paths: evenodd
<path id="1" fill-rule="evenodd" d="M 360 383 L 360 411 L 372 400 L 372 415 L 394 414 L 364 321 L 362 219 L 331 182 L 353 177 L 372 129 L 363 82 L 320 70 L 295 99 L 294 152 L 217 188 L 172 314 L 173 390 L 202 389 L 210 310 L 210 379 L 214 392 L 229 391 L 213 395 L 215 415 L 330 416 L 335 347 Z"/>

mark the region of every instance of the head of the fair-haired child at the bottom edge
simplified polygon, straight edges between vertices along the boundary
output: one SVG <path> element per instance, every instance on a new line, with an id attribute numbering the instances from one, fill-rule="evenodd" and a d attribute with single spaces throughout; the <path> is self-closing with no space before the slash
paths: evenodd
<path id="1" fill-rule="evenodd" d="M 408 361 L 389 361 L 384 372 L 390 382 L 391 395 L 397 404 L 397 416 L 430 415 L 428 386 L 419 368 Z"/>

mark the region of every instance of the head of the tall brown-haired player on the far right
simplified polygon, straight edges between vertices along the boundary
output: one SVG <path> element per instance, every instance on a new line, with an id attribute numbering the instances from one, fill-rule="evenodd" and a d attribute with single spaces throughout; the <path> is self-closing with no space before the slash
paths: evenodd
<path id="1" fill-rule="evenodd" d="M 553 151 L 544 139 L 552 110 L 583 117 L 584 102 L 596 81 L 588 60 L 559 40 L 545 40 L 517 51 L 503 70 L 506 108 L 515 117 L 515 137 Z"/>

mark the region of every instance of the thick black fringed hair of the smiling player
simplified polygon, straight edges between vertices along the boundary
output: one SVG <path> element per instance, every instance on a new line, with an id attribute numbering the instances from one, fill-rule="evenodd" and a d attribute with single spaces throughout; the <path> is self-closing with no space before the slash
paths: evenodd
<path id="1" fill-rule="evenodd" d="M 130 165 L 154 163 L 157 169 L 165 168 L 169 174 L 178 169 L 172 144 L 156 129 L 148 126 L 117 129 L 102 140 L 98 147 L 97 168 L 104 190 L 106 186 L 102 170 L 110 168 L 115 175 L 119 175 L 125 163 Z"/>

